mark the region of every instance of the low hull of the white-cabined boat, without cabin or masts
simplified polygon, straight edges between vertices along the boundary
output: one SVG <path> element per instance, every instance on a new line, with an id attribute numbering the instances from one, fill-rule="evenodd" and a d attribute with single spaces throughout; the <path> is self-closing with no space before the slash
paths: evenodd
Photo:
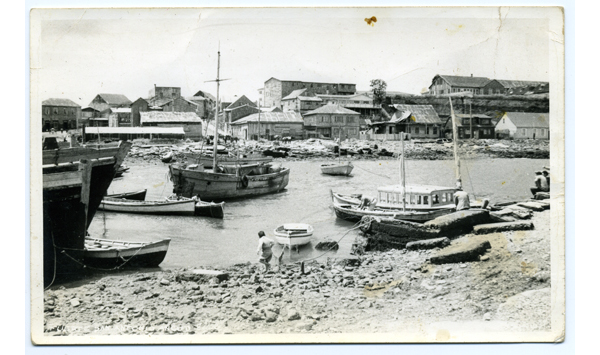
<path id="1" fill-rule="evenodd" d="M 364 216 L 387 217 L 405 221 L 425 222 L 454 211 L 454 209 L 434 211 L 401 211 L 382 209 L 363 210 L 358 208 L 358 206 L 338 204 L 333 204 L 333 210 L 338 218 L 351 222 L 358 222 Z"/>

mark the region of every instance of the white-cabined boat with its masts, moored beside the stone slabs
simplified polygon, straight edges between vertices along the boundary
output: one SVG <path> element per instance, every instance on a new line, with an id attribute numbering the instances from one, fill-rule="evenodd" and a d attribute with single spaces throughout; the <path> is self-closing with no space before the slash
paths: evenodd
<path id="1" fill-rule="evenodd" d="M 401 158 L 399 185 L 382 186 L 377 189 L 377 202 L 371 206 L 361 205 L 357 197 L 331 193 L 333 209 L 338 218 L 358 221 L 363 216 L 392 217 L 400 220 L 425 222 L 455 211 L 454 193 L 461 187 L 460 160 L 458 158 L 457 126 L 450 99 L 452 130 L 454 133 L 454 160 L 456 186 L 406 185 L 404 163 L 404 135 L 401 133 Z M 355 195 L 358 196 L 358 195 Z"/>

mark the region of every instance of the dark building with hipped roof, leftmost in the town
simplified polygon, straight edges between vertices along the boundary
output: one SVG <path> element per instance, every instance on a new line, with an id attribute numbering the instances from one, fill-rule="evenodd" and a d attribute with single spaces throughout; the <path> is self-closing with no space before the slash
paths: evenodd
<path id="1" fill-rule="evenodd" d="M 42 130 L 69 130 L 78 127 L 81 106 L 69 99 L 47 99 L 42 101 Z"/>

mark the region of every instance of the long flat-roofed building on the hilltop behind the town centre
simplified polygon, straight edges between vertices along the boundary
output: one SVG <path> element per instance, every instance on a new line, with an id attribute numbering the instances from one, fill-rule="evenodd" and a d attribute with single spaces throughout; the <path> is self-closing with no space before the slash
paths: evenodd
<path id="1" fill-rule="evenodd" d="M 262 89 L 264 94 L 262 102 L 267 107 L 282 107 L 281 99 L 291 94 L 292 91 L 299 89 L 306 89 L 304 96 L 309 96 L 308 94 L 352 95 L 356 93 L 356 84 L 318 83 L 270 78 L 265 81 L 265 86 Z M 261 89 L 259 89 L 259 92 L 261 92 Z"/>

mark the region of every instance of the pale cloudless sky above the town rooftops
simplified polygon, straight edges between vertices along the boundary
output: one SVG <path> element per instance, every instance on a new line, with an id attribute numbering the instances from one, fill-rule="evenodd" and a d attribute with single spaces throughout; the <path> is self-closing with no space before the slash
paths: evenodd
<path id="1" fill-rule="evenodd" d="M 549 80 L 547 10 L 532 8 L 37 9 L 32 98 L 82 107 L 157 86 L 232 101 L 271 77 L 419 94 L 436 74 Z M 368 24 L 365 18 L 375 16 Z"/>

